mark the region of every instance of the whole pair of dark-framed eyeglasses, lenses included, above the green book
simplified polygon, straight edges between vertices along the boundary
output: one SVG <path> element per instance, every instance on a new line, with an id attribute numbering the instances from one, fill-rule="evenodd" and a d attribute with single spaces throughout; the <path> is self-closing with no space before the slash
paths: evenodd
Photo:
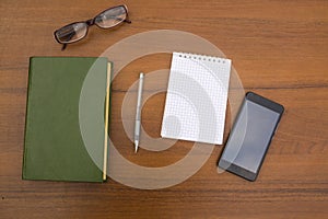
<path id="1" fill-rule="evenodd" d="M 89 26 L 95 24 L 101 28 L 112 28 L 122 22 L 131 23 L 128 19 L 127 5 L 109 8 L 96 15 L 94 19 L 68 24 L 55 31 L 54 34 L 56 41 L 59 44 L 62 44 L 61 50 L 63 50 L 68 44 L 75 43 L 84 38 L 87 34 Z"/>

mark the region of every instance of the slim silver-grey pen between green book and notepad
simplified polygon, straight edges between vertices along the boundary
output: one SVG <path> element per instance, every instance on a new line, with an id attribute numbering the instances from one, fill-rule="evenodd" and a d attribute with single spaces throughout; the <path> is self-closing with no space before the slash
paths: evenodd
<path id="1" fill-rule="evenodd" d="M 136 126 L 134 126 L 134 152 L 136 153 L 138 151 L 139 139 L 140 139 L 142 84 L 143 84 L 143 73 L 141 72 L 139 76 Z"/>

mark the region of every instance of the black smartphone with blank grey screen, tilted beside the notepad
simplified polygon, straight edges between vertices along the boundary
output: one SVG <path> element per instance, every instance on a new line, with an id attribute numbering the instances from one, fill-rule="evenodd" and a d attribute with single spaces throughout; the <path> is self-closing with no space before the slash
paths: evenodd
<path id="1" fill-rule="evenodd" d="M 246 93 L 219 168 L 255 181 L 283 111 L 283 106 L 273 101 Z"/>

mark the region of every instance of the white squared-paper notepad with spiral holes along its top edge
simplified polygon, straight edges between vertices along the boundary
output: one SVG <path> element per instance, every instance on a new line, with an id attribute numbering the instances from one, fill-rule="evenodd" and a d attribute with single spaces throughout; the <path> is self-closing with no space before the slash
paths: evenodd
<path id="1" fill-rule="evenodd" d="M 231 60 L 173 53 L 161 136 L 222 145 Z"/>

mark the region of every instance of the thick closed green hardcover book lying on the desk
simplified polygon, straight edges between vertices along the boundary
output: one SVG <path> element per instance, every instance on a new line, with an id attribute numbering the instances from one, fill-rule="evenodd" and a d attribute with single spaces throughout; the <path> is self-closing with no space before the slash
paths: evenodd
<path id="1" fill-rule="evenodd" d="M 23 180 L 106 180 L 107 58 L 30 59 Z"/>

